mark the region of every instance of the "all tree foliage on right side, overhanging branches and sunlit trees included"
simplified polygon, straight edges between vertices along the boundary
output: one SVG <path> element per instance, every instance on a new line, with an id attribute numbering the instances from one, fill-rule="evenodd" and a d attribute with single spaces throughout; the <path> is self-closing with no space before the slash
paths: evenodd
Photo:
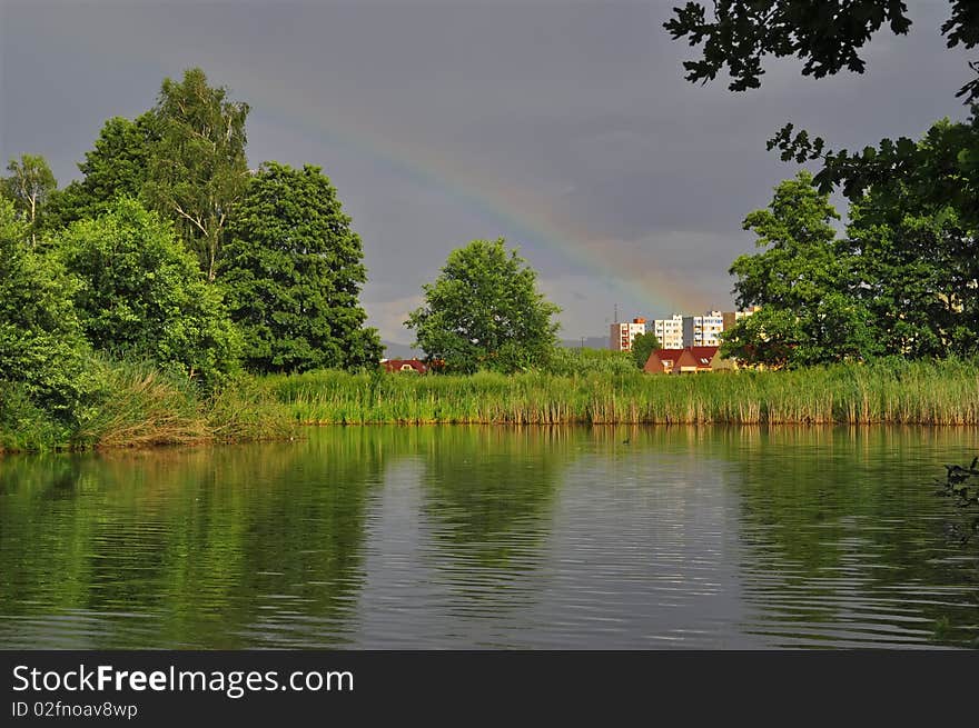
<path id="1" fill-rule="evenodd" d="M 979 6 L 949 4 L 941 28 L 948 47 L 975 48 Z M 674 39 L 703 47 L 700 60 L 684 63 L 688 80 L 706 82 L 726 67 L 730 88 L 743 91 L 760 86 L 765 56 L 797 56 L 803 74 L 815 78 L 843 68 L 862 72 L 859 51 L 884 23 L 894 33 L 907 32 L 906 3 L 721 0 L 709 18 L 702 3 L 688 2 L 665 28 Z M 843 239 L 825 238 L 793 255 L 781 255 L 791 247 L 754 227 L 760 243 L 771 249 L 739 259 L 732 272 L 740 277 L 740 300 L 764 308 L 729 335 L 729 352 L 767 363 L 807 363 L 979 351 L 979 78 L 958 96 L 970 117 L 933 124 L 920 142 L 901 137 L 860 152 L 830 151 L 823 139 L 792 124 L 769 141 L 784 161 L 818 161 L 812 183 L 823 193 L 841 189 L 850 222 Z M 753 215 L 760 221 L 761 213 Z M 770 282 L 763 282 L 767 277 Z M 809 302 L 798 293 L 807 287 Z M 782 296 L 778 289 L 793 292 Z M 833 326 L 838 333 L 829 336 Z"/>

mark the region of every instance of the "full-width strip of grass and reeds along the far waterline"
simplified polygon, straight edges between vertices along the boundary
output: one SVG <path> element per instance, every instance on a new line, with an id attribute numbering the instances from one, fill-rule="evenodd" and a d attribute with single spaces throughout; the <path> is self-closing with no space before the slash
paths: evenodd
<path id="1" fill-rule="evenodd" d="M 209 397 L 145 366 L 118 366 L 102 393 L 68 422 L 18 400 L 17 392 L 0 395 L 0 450 L 283 438 L 300 425 L 979 425 L 979 363 L 889 361 L 694 376 L 319 371 L 243 377 Z"/>

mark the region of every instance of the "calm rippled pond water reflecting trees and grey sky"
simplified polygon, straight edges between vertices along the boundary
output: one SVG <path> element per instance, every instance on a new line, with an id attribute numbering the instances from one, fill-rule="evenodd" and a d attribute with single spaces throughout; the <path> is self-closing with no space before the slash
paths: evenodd
<path id="1" fill-rule="evenodd" d="M 0 647 L 979 644 L 975 430 L 305 433 L 0 459 Z"/>

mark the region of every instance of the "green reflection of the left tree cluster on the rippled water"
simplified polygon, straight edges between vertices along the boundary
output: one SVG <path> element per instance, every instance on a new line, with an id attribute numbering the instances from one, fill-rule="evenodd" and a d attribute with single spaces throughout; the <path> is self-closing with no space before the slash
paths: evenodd
<path id="1" fill-rule="evenodd" d="M 298 443 L 4 459 L 0 614 L 98 615 L 91 646 L 284 644 L 295 615 L 305 642 L 310 632 L 343 642 L 384 445 L 352 429 Z"/>

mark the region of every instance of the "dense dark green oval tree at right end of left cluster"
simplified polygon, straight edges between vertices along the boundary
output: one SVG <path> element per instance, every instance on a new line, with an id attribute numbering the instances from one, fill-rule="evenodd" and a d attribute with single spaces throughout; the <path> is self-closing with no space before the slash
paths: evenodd
<path id="1" fill-rule="evenodd" d="M 265 162 L 228 228 L 220 277 L 257 371 L 376 365 L 360 238 L 319 167 Z"/>

